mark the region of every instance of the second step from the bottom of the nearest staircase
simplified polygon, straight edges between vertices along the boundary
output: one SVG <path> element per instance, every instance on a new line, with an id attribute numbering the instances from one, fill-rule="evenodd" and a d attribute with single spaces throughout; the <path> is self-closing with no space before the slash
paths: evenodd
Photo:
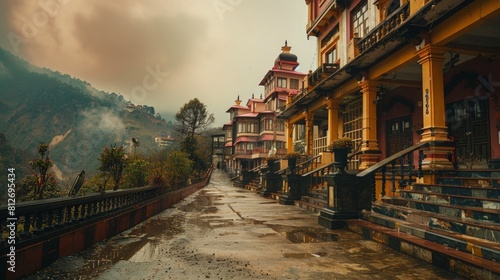
<path id="1" fill-rule="evenodd" d="M 436 242 L 484 259 L 500 261 L 500 244 L 496 242 L 402 221 L 370 211 L 363 211 L 362 217 L 366 221 L 394 229 L 398 232 Z"/>

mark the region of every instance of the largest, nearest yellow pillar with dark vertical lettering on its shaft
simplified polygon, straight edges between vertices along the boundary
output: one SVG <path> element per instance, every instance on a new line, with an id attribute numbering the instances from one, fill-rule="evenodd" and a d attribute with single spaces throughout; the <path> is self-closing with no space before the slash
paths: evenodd
<path id="1" fill-rule="evenodd" d="M 426 45 L 417 54 L 422 65 L 422 115 L 423 132 L 420 142 L 449 142 L 445 120 L 445 100 L 443 82 L 444 48 Z M 452 169 L 448 160 L 452 147 L 432 146 L 424 149 L 422 162 L 425 169 Z"/>

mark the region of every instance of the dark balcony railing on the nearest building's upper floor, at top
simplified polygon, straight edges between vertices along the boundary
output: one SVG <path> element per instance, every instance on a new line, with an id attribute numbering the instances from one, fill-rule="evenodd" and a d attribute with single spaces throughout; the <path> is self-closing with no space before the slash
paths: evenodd
<path id="1" fill-rule="evenodd" d="M 391 35 L 393 31 L 398 29 L 410 16 L 409 2 L 399 7 L 392 13 L 386 20 L 377 25 L 365 37 L 358 42 L 359 53 L 371 48 L 375 43 L 382 41 L 387 36 Z"/>

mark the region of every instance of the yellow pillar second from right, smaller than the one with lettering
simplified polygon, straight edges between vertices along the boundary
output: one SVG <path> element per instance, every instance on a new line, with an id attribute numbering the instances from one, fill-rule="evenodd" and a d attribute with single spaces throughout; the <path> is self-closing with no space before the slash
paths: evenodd
<path id="1" fill-rule="evenodd" d="M 360 170 L 375 165 L 379 161 L 380 150 L 377 139 L 377 98 L 378 83 L 363 80 L 359 84 L 363 94 L 363 140 L 360 155 Z"/>

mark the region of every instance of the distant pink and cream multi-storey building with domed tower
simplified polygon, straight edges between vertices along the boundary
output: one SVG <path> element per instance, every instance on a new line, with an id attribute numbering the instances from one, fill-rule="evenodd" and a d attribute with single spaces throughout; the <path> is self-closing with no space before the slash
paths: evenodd
<path id="1" fill-rule="evenodd" d="M 284 156 L 287 151 L 285 123 L 276 114 L 285 108 L 288 98 L 298 95 L 302 80 L 306 76 L 295 71 L 299 63 L 297 56 L 290 53 L 285 42 L 282 52 L 273 67 L 264 75 L 259 85 L 264 87 L 264 97 L 252 95 L 245 105 L 235 101 L 229 113 L 225 131 L 225 166 L 238 172 L 255 168 L 265 163 L 270 154 Z"/>

